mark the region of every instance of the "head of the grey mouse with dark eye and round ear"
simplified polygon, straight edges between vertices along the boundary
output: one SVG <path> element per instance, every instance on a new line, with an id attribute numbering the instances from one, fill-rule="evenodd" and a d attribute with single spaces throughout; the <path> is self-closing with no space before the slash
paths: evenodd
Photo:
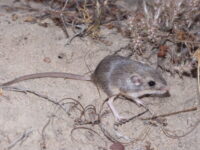
<path id="1" fill-rule="evenodd" d="M 129 81 L 136 89 L 136 97 L 162 95 L 169 92 L 166 80 L 154 68 L 146 68 L 132 74 Z"/>

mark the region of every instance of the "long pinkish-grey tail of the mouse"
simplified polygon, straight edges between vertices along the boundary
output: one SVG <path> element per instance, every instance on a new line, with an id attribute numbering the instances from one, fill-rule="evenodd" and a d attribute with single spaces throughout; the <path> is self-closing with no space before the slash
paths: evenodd
<path id="1" fill-rule="evenodd" d="M 2 83 L 0 84 L 0 86 L 8 86 L 8 85 L 18 83 L 20 81 L 37 79 L 37 78 L 66 78 L 66 79 L 73 79 L 73 80 L 91 81 L 90 76 L 76 75 L 76 74 L 64 73 L 64 72 L 43 72 L 43 73 L 24 75 L 24 76 L 15 78 L 11 81 Z"/>

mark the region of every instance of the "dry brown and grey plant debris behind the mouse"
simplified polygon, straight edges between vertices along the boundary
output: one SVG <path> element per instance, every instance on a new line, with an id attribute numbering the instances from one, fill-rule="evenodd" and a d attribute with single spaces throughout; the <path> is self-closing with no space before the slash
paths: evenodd
<path id="1" fill-rule="evenodd" d="M 18 0 L 12 6 L 2 7 L 9 12 L 34 12 L 31 16 L 26 16 L 24 21 L 44 27 L 48 27 L 48 24 L 41 21 L 51 19 L 69 38 L 66 45 L 78 36 L 90 36 L 108 43 L 101 38 L 101 28 L 115 28 L 123 36 L 130 38 L 127 47 L 131 51 L 130 55 L 149 55 L 150 59 L 154 53 L 157 54 L 157 64 L 161 69 L 173 75 L 177 73 L 180 77 L 197 76 L 194 74 L 197 65 L 193 65 L 192 56 L 200 45 L 200 0 L 129 2 L 130 6 L 137 8 L 134 10 L 118 2 L 120 1 L 25 0 L 24 4 Z M 41 5 L 33 7 L 31 3 Z M 17 18 L 13 17 L 14 20 Z M 74 36 L 69 35 L 69 27 L 74 31 Z"/>

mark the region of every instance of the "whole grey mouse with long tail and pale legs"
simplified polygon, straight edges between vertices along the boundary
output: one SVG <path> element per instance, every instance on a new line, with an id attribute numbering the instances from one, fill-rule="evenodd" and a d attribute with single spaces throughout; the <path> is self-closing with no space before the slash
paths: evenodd
<path id="1" fill-rule="evenodd" d="M 168 92 L 167 82 L 156 69 L 118 55 L 109 55 L 102 59 L 91 76 L 64 72 L 43 72 L 21 76 L 0 86 L 45 77 L 92 81 L 107 94 L 108 105 L 117 122 L 124 122 L 127 119 L 120 116 L 113 105 L 117 96 L 123 95 L 134 100 L 138 105 L 144 106 L 139 99 L 141 96 L 160 95 Z"/>

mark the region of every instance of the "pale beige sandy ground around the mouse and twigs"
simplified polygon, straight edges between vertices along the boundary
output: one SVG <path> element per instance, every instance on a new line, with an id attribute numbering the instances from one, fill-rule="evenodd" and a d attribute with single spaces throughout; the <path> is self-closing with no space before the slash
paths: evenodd
<path id="1" fill-rule="evenodd" d="M 0 0 L 0 5 L 11 1 Z M 13 21 L 12 15 L 19 17 Z M 106 46 L 90 38 L 75 38 L 65 46 L 67 39 L 63 31 L 50 20 L 44 20 L 47 28 L 38 24 L 24 22 L 26 15 L 8 13 L 0 10 L 0 82 L 15 77 L 47 71 L 60 71 L 85 74 L 94 70 L 98 62 L 127 44 L 116 31 L 104 29 L 102 36 L 111 43 Z M 73 35 L 72 32 L 69 32 Z M 62 53 L 63 58 L 58 56 Z M 170 87 L 170 97 L 144 98 L 155 114 L 169 113 L 195 107 L 198 103 L 196 79 L 171 77 L 164 74 Z M 60 101 L 63 98 L 77 99 L 83 106 L 99 106 L 106 98 L 103 92 L 98 94 L 90 82 L 64 79 L 37 79 L 15 84 L 16 87 L 29 89 Z M 67 100 L 63 100 L 66 101 Z M 117 109 L 124 115 L 134 115 L 142 111 L 134 103 L 118 100 Z M 69 105 L 65 105 L 69 109 Z M 105 110 L 109 110 L 105 105 Z M 78 112 L 71 114 L 59 109 L 55 104 L 30 93 L 4 91 L 0 96 L 0 149 L 1 150 L 104 150 L 112 144 L 102 134 L 97 125 L 85 125 L 100 134 L 100 137 L 88 130 L 76 130 L 72 140 L 71 130 Z M 187 112 L 166 117 L 171 134 L 182 135 L 189 131 L 199 119 L 199 112 Z M 109 134 L 126 145 L 126 150 L 197 150 L 200 145 L 200 127 L 182 138 L 167 137 L 161 125 L 154 122 L 132 120 L 115 127 L 111 113 L 102 119 L 102 126 Z"/>

